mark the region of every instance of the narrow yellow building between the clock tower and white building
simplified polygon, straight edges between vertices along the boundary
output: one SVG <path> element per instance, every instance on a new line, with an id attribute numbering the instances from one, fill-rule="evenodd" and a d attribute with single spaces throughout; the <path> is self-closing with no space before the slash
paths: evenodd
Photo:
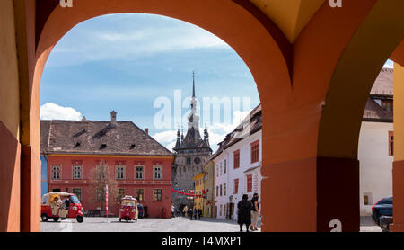
<path id="1" fill-rule="evenodd" d="M 204 199 L 204 217 L 215 217 L 215 163 L 209 161 L 204 167 L 204 187 L 205 196 Z"/>

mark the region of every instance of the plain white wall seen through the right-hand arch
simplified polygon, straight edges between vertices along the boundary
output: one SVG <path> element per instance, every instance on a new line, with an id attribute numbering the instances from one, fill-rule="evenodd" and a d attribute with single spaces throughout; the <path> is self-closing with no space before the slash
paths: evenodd
<path id="1" fill-rule="evenodd" d="M 362 122 L 358 150 L 361 216 L 372 215 L 373 203 L 392 194 L 389 131 L 393 131 L 393 123 Z M 372 195 L 370 205 L 364 205 L 364 193 Z"/>

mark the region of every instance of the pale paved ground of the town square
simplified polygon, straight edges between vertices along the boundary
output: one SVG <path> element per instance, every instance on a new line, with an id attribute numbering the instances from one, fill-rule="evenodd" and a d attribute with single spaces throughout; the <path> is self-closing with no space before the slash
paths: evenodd
<path id="1" fill-rule="evenodd" d="M 235 221 L 206 219 L 189 220 L 188 218 L 173 219 L 138 219 L 137 222 L 119 222 L 118 218 L 84 218 L 83 223 L 75 219 L 64 221 L 41 222 L 42 232 L 238 232 Z M 259 227 L 260 231 L 260 227 Z M 257 231 L 257 232 L 259 232 Z M 361 218 L 362 232 L 381 232 L 370 217 Z"/>

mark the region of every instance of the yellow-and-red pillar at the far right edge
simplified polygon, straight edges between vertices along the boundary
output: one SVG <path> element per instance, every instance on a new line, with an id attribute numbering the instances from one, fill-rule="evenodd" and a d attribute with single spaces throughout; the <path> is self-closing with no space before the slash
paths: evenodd
<path id="1" fill-rule="evenodd" d="M 394 64 L 394 163 L 393 224 L 391 231 L 404 232 L 404 67 Z"/>

